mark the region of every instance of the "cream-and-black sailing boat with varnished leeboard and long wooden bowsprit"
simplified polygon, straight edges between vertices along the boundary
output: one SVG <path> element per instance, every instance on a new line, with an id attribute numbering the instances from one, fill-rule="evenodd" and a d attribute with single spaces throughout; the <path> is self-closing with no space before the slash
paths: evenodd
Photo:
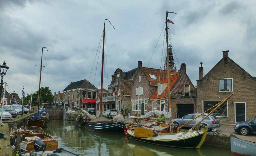
<path id="1" fill-rule="evenodd" d="M 172 23 L 168 19 L 168 13 L 174 13 L 174 12 L 166 12 L 166 47 L 167 47 L 167 51 L 168 51 L 167 23 L 168 22 Z M 206 137 L 206 134 L 208 131 L 208 126 L 200 129 L 200 127 L 199 126 L 196 127 L 196 125 L 201 124 L 202 120 L 207 118 L 212 112 L 214 112 L 218 107 L 220 107 L 224 102 L 226 102 L 234 93 L 231 93 L 226 99 L 224 99 L 223 101 L 221 101 L 219 104 L 215 105 L 214 107 L 210 108 L 213 110 L 206 117 L 202 118 L 201 115 L 203 113 L 199 114 L 196 118 L 198 118 L 198 119 L 200 118 L 200 119 L 197 120 L 196 125 L 193 128 L 191 128 L 185 132 L 181 132 L 179 130 L 181 127 L 174 129 L 174 125 L 172 124 L 172 120 L 171 120 L 172 113 L 171 113 L 171 100 L 170 100 L 169 57 L 167 57 L 167 62 L 168 62 L 167 63 L 167 65 L 168 65 L 167 66 L 167 73 L 168 73 L 167 78 L 168 78 L 168 94 L 169 94 L 169 96 L 168 96 L 168 102 L 169 102 L 168 112 L 153 110 L 153 111 L 146 113 L 144 116 L 141 116 L 141 117 L 129 116 L 129 118 L 133 118 L 134 121 L 132 122 L 131 126 L 127 126 L 125 128 L 125 134 L 131 136 L 131 138 L 134 140 L 157 144 L 157 145 L 161 145 L 161 146 L 179 147 L 179 148 L 200 148 L 205 140 L 205 137 Z M 204 112 L 204 113 L 206 113 L 206 112 Z M 149 116 L 151 116 L 152 114 L 164 115 L 165 118 L 169 118 L 169 123 L 166 124 L 164 122 L 153 121 L 153 122 L 160 123 L 160 125 L 157 126 L 154 123 L 146 122 L 142 126 L 138 126 L 139 125 L 138 119 L 152 122 L 152 120 L 146 119 Z M 194 118 L 194 119 L 196 119 L 196 118 Z M 194 119 L 192 119 L 192 120 L 194 120 Z M 191 121 L 189 121 L 189 122 L 191 122 Z M 186 124 L 188 124 L 189 122 L 187 122 Z M 137 125 L 135 125 L 135 123 L 137 123 Z"/>

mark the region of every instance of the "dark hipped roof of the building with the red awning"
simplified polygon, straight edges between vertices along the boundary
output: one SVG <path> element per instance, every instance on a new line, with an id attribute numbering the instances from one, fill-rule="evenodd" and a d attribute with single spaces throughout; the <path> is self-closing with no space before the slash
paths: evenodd
<path id="1" fill-rule="evenodd" d="M 92 85 L 89 81 L 86 79 L 80 80 L 77 82 L 71 82 L 63 91 L 68 91 L 72 89 L 77 89 L 77 88 L 87 88 L 87 89 L 97 89 L 94 85 Z"/>

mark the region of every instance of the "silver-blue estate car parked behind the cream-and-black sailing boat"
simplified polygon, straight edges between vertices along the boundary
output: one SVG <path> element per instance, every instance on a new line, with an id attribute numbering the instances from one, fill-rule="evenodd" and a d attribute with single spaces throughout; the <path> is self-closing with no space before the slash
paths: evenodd
<path id="1" fill-rule="evenodd" d="M 178 118 L 178 119 L 172 119 L 172 122 L 174 124 L 174 127 L 180 127 L 182 125 L 184 125 L 185 123 L 187 123 L 188 121 L 190 121 L 191 119 L 194 119 L 196 117 L 196 113 L 194 114 L 188 114 L 185 115 L 182 118 Z M 204 118 L 207 114 L 203 114 L 202 118 Z M 218 119 L 217 117 L 215 117 L 214 115 L 210 115 L 207 118 L 205 118 L 203 121 L 203 127 L 205 127 L 206 125 L 208 125 L 208 129 L 212 129 L 212 128 L 218 128 L 221 126 L 220 124 L 220 119 Z M 187 128 L 192 128 L 194 125 L 196 124 L 196 120 L 193 120 L 191 122 L 189 122 L 187 125 L 185 125 L 184 127 Z"/>

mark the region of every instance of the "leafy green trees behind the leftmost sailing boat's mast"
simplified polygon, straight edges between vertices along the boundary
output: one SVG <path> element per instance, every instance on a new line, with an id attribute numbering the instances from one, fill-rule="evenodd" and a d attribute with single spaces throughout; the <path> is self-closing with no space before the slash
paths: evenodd
<path id="1" fill-rule="evenodd" d="M 37 105 L 37 98 L 38 98 L 38 91 L 32 94 L 32 104 Z M 49 86 L 47 87 L 41 87 L 40 90 L 40 104 L 42 104 L 43 101 L 53 101 L 54 96 L 52 95 L 51 91 L 49 90 Z M 23 104 L 28 104 L 31 100 L 31 94 L 24 97 Z"/>

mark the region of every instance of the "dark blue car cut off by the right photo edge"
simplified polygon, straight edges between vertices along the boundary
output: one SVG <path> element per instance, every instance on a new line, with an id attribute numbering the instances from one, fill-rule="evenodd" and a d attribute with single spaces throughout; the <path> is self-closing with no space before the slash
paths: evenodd
<path id="1" fill-rule="evenodd" d="M 256 117 L 247 121 L 238 122 L 234 130 L 241 135 L 256 134 Z"/>

